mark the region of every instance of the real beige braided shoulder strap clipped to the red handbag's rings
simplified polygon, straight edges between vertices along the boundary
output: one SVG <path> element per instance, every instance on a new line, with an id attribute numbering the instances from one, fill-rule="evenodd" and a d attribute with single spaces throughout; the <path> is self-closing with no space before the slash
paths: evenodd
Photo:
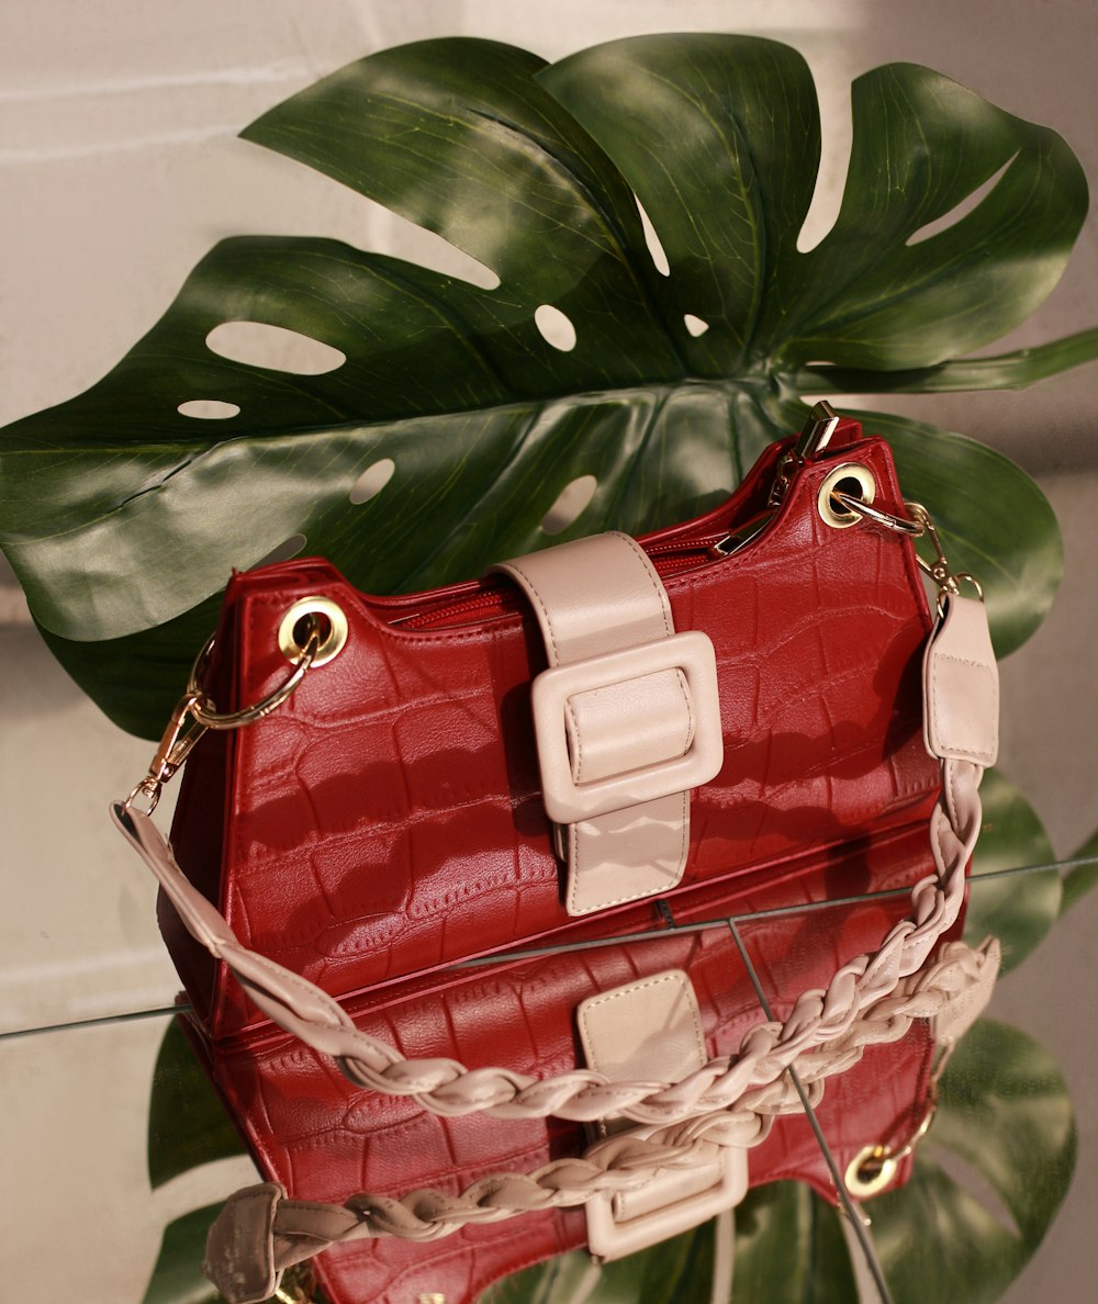
<path id="1" fill-rule="evenodd" d="M 468 1069 L 453 1059 L 406 1059 L 356 1029 L 339 1003 L 313 983 L 244 947 L 188 882 L 149 815 L 117 802 L 112 818 L 196 940 L 230 966 L 270 1018 L 336 1059 L 352 1082 L 409 1095 L 442 1116 L 484 1111 L 593 1121 L 619 1114 L 638 1123 L 675 1123 L 726 1110 L 746 1091 L 773 1082 L 803 1052 L 842 1037 L 863 1008 L 923 966 L 956 922 L 979 833 L 979 780 L 998 746 L 998 673 L 982 602 L 956 596 L 945 601 L 927 644 L 923 678 L 927 745 L 942 760 L 943 776 L 930 827 L 936 875 L 915 884 L 908 918 L 889 930 L 875 953 L 842 965 L 825 990 L 805 992 L 784 1024 L 751 1029 L 738 1055 L 717 1056 L 675 1084 L 610 1082 L 591 1069 L 541 1081 L 507 1068 Z"/>

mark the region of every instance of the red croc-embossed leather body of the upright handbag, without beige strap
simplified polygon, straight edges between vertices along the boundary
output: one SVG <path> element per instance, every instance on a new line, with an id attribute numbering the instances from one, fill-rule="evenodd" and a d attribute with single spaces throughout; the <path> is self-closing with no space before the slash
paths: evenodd
<path id="1" fill-rule="evenodd" d="M 820 520 L 819 484 L 844 459 L 872 471 L 878 506 L 901 510 L 883 442 L 844 422 L 833 447 L 734 556 L 708 544 L 765 506 L 780 447 L 729 502 L 642 540 L 677 629 L 712 639 L 721 687 L 724 768 L 692 794 L 677 914 L 870 833 L 926 836 L 938 793 L 921 738 L 926 599 L 906 540 Z M 270 717 L 200 743 L 172 829 L 184 870 L 245 945 L 353 995 L 503 948 L 651 926 L 652 902 L 580 921 L 561 905 L 529 720 L 544 652 L 516 591 L 496 579 L 365 597 L 321 561 L 237 575 L 209 685 L 222 709 L 286 677 L 276 630 L 306 595 L 344 609 L 347 647 Z M 262 1016 L 171 906 L 160 918 L 209 1034 L 254 1034 Z"/>

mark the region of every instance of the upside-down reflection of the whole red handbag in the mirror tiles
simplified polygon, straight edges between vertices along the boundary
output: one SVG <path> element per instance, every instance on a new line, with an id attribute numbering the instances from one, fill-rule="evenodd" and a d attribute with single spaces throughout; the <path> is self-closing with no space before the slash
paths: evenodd
<path id="1" fill-rule="evenodd" d="M 782 911 L 738 925 L 777 1017 L 797 992 L 827 982 L 838 939 L 866 947 L 902 914 L 900 898 L 798 905 L 824 895 L 836 871 L 883 888 L 910 883 L 927 859 L 925 838 L 908 833 L 737 902 L 765 900 Z M 935 1050 L 975 1018 L 996 968 L 994 948 L 948 943 L 842 1037 L 798 1056 L 815 1120 L 857 1196 L 906 1180 L 932 1114 Z M 683 996 L 696 1030 L 673 1017 Z M 669 1076 L 682 1076 L 691 1056 L 696 1064 L 734 1052 L 759 1018 L 737 941 L 720 922 L 451 970 L 346 1008 L 357 1029 L 387 1042 L 445 1046 L 467 1063 L 488 1063 L 506 1045 L 514 1069 L 548 1077 L 572 1065 L 576 1042 L 589 1067 L 608 1068 L 596 1058 L 599 1039 L 619 1035 L 616 1025 L 634 1004 L 645 1037 L 662 1043 Z M 267 1297 L 282 1270 L 327 1245 L 314 1265 L 325 1299 L 472 1300 L 499 1277 L 567 1249 L 587 1245 L 613 1258 L 696 1226 L 749 1185 L 799 1179 L 836 1200 L 788 1076 L 732 1108 L 664 1128 L 484 1114 L 451 1120 L 412 1099 L 363 1098 L 322 1055 L 286 1037 L 241 1046 L 192 1031 L 249 1149 L 275 1179 L 232 1197 L 211 1236 L 207 1271 L 233 1300 Z M 656 1069 L 651 1054 L 645 1063 Z M 286 1198 L 287 1188 L 296 1198 Z M 519 1213 L 519 1224 L 506 1221 Z"/>

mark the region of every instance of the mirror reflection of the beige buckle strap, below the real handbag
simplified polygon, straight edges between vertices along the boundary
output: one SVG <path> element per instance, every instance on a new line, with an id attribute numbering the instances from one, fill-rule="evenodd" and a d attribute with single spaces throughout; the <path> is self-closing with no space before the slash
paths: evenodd
<path id="1" fill-rule="evenodd" d="M 589 1068 L 614 1081 L 672 1082 L 705 1064 L 702 1015 L 690 978 L 668 969 L 582 1001 L 576 1025 Z M 638 1131 L 621 1116 L 601 1136 Z M 600 1191 L 584 1205 L 595 1258 L 614 1260 L 656 1245 L 738 1205 L 747 1193 L 747 1151 L 711 1145 L 690 1166 L 656 1168 L 636 1189 Z"/>

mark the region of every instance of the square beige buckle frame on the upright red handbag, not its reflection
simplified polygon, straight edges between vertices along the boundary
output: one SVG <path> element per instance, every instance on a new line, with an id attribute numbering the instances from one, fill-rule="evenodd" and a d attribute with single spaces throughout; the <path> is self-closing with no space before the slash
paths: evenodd
<path id="1" fill-rule="evenodd" d="M 694 738 L 686 754 L 576 784 L 565 730 L 569 699 L 661 670 L 682 670 L 686 677 L 695 717 Z M 546 814 L 557 824 L 575 824 L 689 792 L 713 778 L 724 762 L 717 661 L 713 644 L 699 630 L 542 670 L 533 681 L 531 696 L 541 792 Z"/>

